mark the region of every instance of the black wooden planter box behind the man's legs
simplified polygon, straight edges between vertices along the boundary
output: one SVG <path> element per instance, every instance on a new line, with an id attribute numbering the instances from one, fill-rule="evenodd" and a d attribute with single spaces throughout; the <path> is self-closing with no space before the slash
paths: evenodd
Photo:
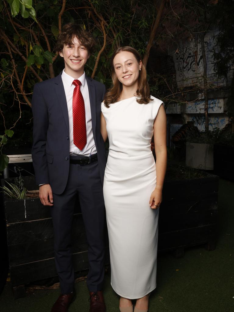
<path id="1" fill-rule="evenodd" d="M 28 190 L 37 189 L 34 177 L 23 179 Z M 14 179 L 6 180 L 12 183 L 14 181 Z M 39 198 L 14 200 L 4 197 L 3 205 L 11 285 L 15 297 L 21 297 L 25 292 L 25 284 L 57 275 L 50 208 L 43 206 Z M 72 247 L 74 270 L 78 272 L 87 270 L 89 265 L 85 228 L 78 202 L 76 207 L 72 226 Z M 108 249 L 106 263 L 109 263 Z"/>

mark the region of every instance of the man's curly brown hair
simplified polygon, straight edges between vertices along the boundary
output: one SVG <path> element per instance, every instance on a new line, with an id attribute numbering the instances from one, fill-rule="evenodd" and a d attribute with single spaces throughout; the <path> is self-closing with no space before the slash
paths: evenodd
<path id="1" fill-rule="evenodd" d="M 89 53 L 92 53 L 95 47 L 95 40 L 89 32 L 76 23 L 68 23 L 63 26 L 62 32 L 59 34 L 55 51 L 62 51 L 64 44 L 72 44 L 73 38 L 76 37 L 82 45 L 86 47 Z"/>

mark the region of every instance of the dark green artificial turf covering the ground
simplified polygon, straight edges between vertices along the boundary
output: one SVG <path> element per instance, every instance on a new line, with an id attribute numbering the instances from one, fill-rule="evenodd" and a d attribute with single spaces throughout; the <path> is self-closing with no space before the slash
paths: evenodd
<path id="1" fill-rule="evenodd" d="M 234 311 L 234 183 L 220 180 L 217 246 L 185 250 L 184 257 L 172 253 L 158 255 L 157 289 L 150 296 L 149 312 L 233 312 Z M 140 281 L 139 281 L 140 283 Z M 77 297 L 69 312 L 88 312 L 86 282 L 76 284 Z M 1 312 L 48 312 L 59 290 L 34 290 L 27 297 L 13 299 L 7 282 L 0 296 Z M 119 298 L 110 286 L 110 270 L 105 275 L 107 312 L 119 311 Z"/>

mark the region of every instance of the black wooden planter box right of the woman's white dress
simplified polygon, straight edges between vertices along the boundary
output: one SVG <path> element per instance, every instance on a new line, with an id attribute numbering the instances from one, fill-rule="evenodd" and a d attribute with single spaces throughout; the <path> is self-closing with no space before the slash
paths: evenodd
<path id="1" fill-rule="evenodd" d="M 218 210 L 218 181 L 205 178 L 165 181 L 158 223 L 158 251 L 175 250 L 183 256 L 184 247 L 207 243 L 215 249 Z"/>

